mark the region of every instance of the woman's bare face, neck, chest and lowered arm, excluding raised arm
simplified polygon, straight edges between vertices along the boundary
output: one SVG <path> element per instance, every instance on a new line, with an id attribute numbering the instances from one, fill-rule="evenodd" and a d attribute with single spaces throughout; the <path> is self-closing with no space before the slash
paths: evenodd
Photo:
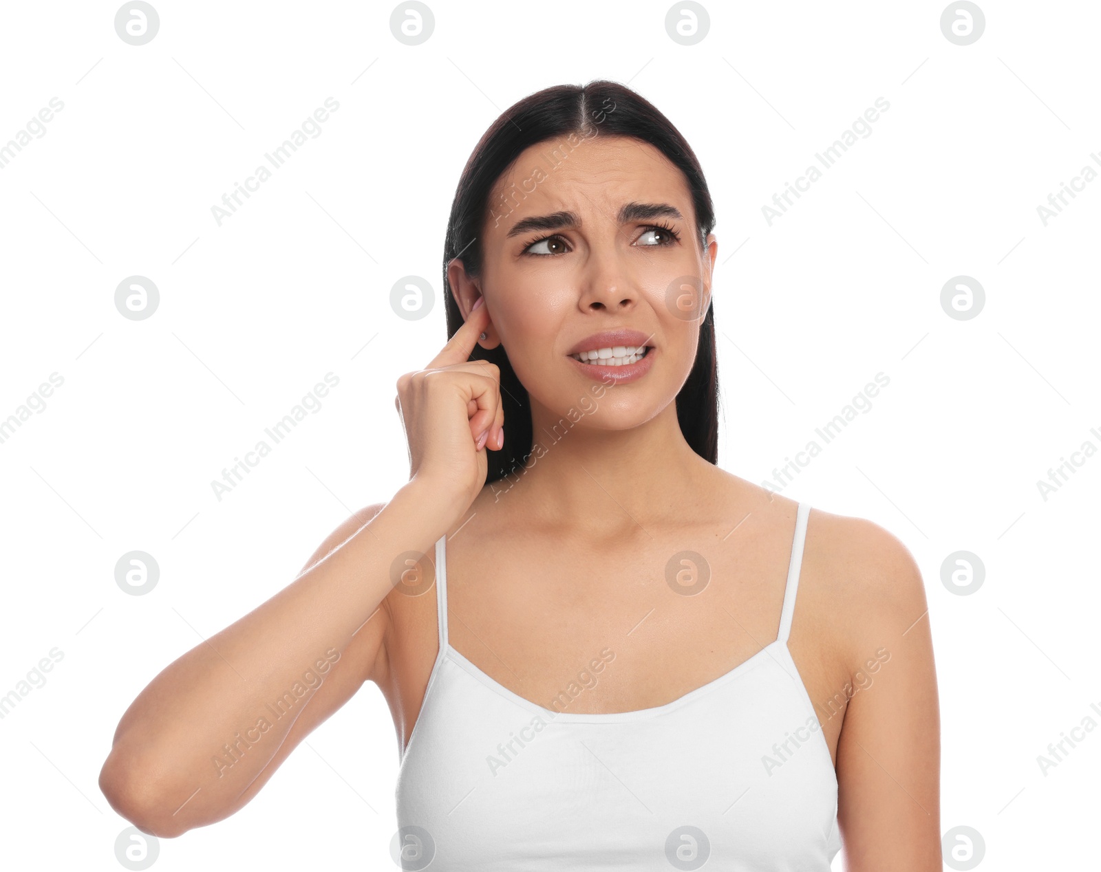
<path id="1" fill-rule="evenodd" d="M 530 178 L 530 166 L 522 154 L 499 190 Z M 683 219 L 666 222 L 679 239 L 657 244 L 668 237 L 647 221 L 618 224 L 621 206 L 640 201 L 673 205 Z M 776 637 L 795 522 L 792 501 L 702 460 L 677 424 L 674 400 L 698 326 L 671 312 L 666 288 L 699 276 L 706 310 L 715 236 L 700 246 L 679 172 L 648 144 L 619 138 L 584 142 L 509 205 L 487 222 L 483 274 L 468 276 L 456 261 L 449 277 L 465 314 L 484 297 L 492 324 L 482 345 L 505 344 L 547 450 L 511 487 L 483 490 L 448 531 L 449 642 L 539 705 L 610 645 L 620 652 L 615 667 L 576 700 L 576 711 L 663 705 Z M 579 226 L 509 233 L 523 218 L 559 210 L 576 214 Z M 653 369 L 607 391 L 554 442 L 564 410 L 592 388 L 565 353 L 619 326 L 654 337 Z M 502 486 L 506 492 L 494 494 Z M 702 596 L 679 597 L 664 584 L 665 563 L 683 549 L 711 564 Z M 399 589 L 386 604 L 381 687 L 404 745 L 438 648 L 435 598 Z M 894 536 L 866 521 L 811 513 L 788 646 L 837 767 L 852 872 L 941 868 L 926 610 L 917 566 Z"/>

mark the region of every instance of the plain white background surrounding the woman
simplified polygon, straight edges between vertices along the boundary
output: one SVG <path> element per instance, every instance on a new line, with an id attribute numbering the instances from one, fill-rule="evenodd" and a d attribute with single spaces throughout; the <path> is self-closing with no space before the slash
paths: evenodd
<path id="1" fill-rule="evenodd" d="M 1095 4 L 983 2 L 967 46 L 940 2 L 709 2 L 693 46 L 667 3 L 434 1 L 419 46 L 389 4 L 154 6 L 142 46 L 111 3 L 6 4 L 0 24 L 0 143 L 64 102 L 0 170 L 0 419 L 64 378 L 0 444 L 0 694 L 64 652 L 0 720 L 4 866 L 120 868 L 129 825 L 97 777 L 122 711 L 407 478 L 394 383 L 446 340 L 462 165 L 515 100 L 593 78 L 654 102 L 707 173 L 720 465 L 762 481 L 890 377 L 784 493 L 875 521 L 922 567 L 942 831 L 977 829 L 980 868 L 1097 863 L 1101 731 L 1046 776 L 1037 755 L 1101 722 L 1101 457 L 1046 500 L 1036 484 L 1101 448 L 1101 181 L 1047 226 L 1036 208 L 1101 171 Z M 210 207 L 329 97 L 320 135 L 219 227 Z M 762 206 L 879 97 L 871 135 L 770 226 Z M 140 321 L 115 307 L 135 274 L 161 294 Z M 390 307 L 410 274 L 436 292 L 423 320 Z M 961 274 L 985 290 L 970 320 L 940 305 Z M 327 372 L 320 411 L 219 501 L 211 480 Z M 142 597 L 113 577 L 133 549 L 161 568 Z M 941 582 L 957 551 L 985 567 L 970 596 Z M 368 685 L 242 810 L 162 840 L 155 868 L 393 868 L 396 771 Z"/>

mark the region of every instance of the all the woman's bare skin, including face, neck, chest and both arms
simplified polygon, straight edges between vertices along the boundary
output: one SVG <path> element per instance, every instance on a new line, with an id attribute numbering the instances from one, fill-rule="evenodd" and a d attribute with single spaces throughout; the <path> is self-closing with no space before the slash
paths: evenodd
<path id="1" fill-rule="evenodd" d="M 536 148 L 499 179 L 498 195 L 530 177 Z M 661 220 L 679 238 L 653 219 L 621 224 L 620 209 L 631 203 L 674 207 L 679 217 Z M 509 235 L 521 219 L 563 210 L 579 222 Z M 664 705 L 776 637 L 796 504 L 700 458 L 676 417 L 698 323 L 671 309 L 666 290 L 679 276 L 698 276 L 706 310 L 717 253 L 713 235 L 699 240 L 694 221 L 680 173 L 652 146 L 621 138 L 584 142 L 506 212 L 494 210 L 481 238 L 482 273 L 468 275 L 460 261 L 449 269 L 467 324 L 425 370 L 399 381 L 410 484 L 321 543 L 292 586 L 301 587 L 297 602 L 277 595 L 210 640 L 250 678 L 263 674 L 268 689 L 301 672 L 323 641 L 336 640 L 339 661 L 293 722 L 279 724 L 263 755 L 237 764 L 244 769 L 228 776 L 231 787 L 208 778 L 198 795 L 207 805 L 177 814 L 176 797 L 211 741 L 194 739 L 196 724 L 186 718 L 195 715 L 185 712 L 203 710 L 209 723 L 201 726 L 215 737 L 251 711 L 217 657 L 189 652 L 120 723 L 101 777 L 113 806 L 157 835 L 221 819 L 364 682 L 384 694 L 404 748 L 438 653 L 435 587 L 412 596 L 380 577 L 391 555 L 430 555 L 445 533 L 449 642 L 538 705 L 603 647 L 615 660 L 571 711 Z M 596 384 L 567 352 L 614 327 L 652 337 L 651 371 L 607 390 L 554 439 L 566 411 Z M 515 480 L 487 487 L 479 436 L 497 448 L 509 422 L 494 368 L 466 362 L 482 330 L 487 338 L 477 341 L 508 348 L 546 448 Z M 695 597 L 665 582 L 668 558 L 686 549 L 711 569 Z M 432 571 L 428 563 L 422 571 Z M 303 608 L 312 610 L 312 634 L 287 654 L 272 632 L 292 614 L 304 623 Z M 894 536 L 866 521 L 811 512 L 788 647 L 836 765 L 850 872 L 941 868 L 939 711 L 926 608 L 917 566 Z M 178 706 L 173 729 L 159 700 Z M 146 762 L 128 762 L 140 751 Z M 156 789 L 141 795 L 132 786 L 159 770 Z"/>

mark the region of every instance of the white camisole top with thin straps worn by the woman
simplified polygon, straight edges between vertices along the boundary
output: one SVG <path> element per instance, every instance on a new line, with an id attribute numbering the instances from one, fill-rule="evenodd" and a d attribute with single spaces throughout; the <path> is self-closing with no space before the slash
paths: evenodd
<path id="1" fill-rule="evenodd" d="M 837 775 L 787 647 L 808 513 L 775 641 L 672 702 L 614 713 L 544 708 L 450 646 L 440 536 L 439 652 L 395 791 L 400 868 L 827 872 Z"/>

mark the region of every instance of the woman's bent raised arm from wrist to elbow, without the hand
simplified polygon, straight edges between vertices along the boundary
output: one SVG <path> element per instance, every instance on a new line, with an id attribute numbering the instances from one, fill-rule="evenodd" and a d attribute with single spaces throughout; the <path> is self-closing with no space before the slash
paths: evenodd
<path id="1" fill-rule="evenodd" d="M 150 682 L 100 772 L 116 811 L 161 838 L 228 817 L 373 677 L 395 558 L 449 523 L 423 488 L 357 512 L 287 587 Z"/>

